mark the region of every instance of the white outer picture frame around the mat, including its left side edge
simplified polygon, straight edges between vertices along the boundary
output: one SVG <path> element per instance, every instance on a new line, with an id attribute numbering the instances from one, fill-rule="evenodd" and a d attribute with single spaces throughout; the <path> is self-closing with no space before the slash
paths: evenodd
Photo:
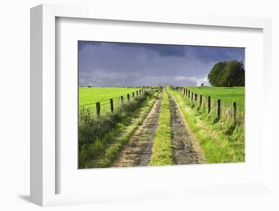
<path id="1" fill-rule="evenodd" d="M 220 193 L 270 193 L 272 194 L 272 137 L 271 116 L 268 109 L 271 84 L 271 20 L 247 17 L 218 16 L 187 16 L 167 17 L 161 15 L 146 15 L 140 12 L 127 12 L 119 15 L 117 11 L 106 14 L 97 8 L 40 5 L 31 9 L 31 202 L 41 206 L 85 204 L 110 201 L 151 200 L 172 197 L 183 197 L 191 194 L 208 194 L 208 187 L 163 187 L 162 189 L 141 189 L 133 193 L 118 194 L 96 191 L 93 193 L 56 194 L 55 157 L 56 155 L 56 86 L 55 80 L 55 18 L 87 18 L 104 20 L 142 21 L 169 24 L 191 24 L 222 27 L 259 28 L 263 30 L 263 121 L 262 138 L 265 142 L 262 148 L 262 180 L 243 184 L 212 184 L 209 192 Z M 141 171 L 138 169 L 137 171 Z M 179 170 L 177 170 L 179 171 Z M 124 173 L 124 171 L 123 171 Z M 175 191 L 174 191 L 175 190 Z M 206 192 L 207 191 L 207 192 Z M 254 192 L 253 192 L 254 191 Z M 173 194 L 176 192 L 176 194 Z"/>

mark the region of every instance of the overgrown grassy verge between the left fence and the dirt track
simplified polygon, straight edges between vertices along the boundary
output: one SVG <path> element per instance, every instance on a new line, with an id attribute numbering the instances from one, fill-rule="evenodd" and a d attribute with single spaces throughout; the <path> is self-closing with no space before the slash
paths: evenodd
<path id="1" fill-rule="evenodd" d="M 158 94 L 159 90 L 144 92 L 135 100 L 124 102 L 113 114 L 100 117 L 80 114 L 79 168 L 109 167 L 142 123 Z"/>

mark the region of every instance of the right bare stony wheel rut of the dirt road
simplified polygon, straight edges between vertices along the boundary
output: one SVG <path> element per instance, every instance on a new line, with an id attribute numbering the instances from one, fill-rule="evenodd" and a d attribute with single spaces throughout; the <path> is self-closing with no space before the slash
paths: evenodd
<path id="1" fill-rule="evenodd" d="M 205 158 L 197 139 L 191 132 L 175 97 L 168 92 L 167 94 L 170 100 L 173 160 L 177 165 L 204 163 Z"/>

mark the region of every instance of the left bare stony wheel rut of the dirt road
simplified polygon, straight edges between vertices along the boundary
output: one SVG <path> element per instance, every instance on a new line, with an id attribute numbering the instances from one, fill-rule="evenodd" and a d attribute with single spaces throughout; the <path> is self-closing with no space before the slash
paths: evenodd
<path id="1" fill-rule="evenodd" d="M 161 103 L 162 93 L 159 94 L 147 117 L 135 130 L 129 143 L 111 167 L 148 166 L 152 155 L 154 134 L 158 127 Z"/>

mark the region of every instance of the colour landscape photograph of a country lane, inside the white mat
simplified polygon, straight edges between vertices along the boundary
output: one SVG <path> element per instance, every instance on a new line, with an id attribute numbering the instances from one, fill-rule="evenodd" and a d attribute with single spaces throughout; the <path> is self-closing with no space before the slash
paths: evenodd
<path id="1" fill-rule="evenodd" d="M 245 162 L 245 48 L 77 45 L 79 169 Z"/>

